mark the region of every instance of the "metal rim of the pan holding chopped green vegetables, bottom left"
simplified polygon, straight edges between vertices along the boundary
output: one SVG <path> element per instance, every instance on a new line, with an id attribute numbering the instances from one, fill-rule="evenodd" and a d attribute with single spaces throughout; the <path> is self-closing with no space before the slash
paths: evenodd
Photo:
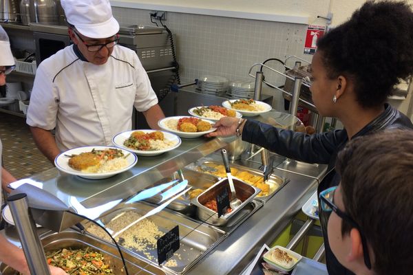
<path id="1" fill-rule="evenodd" d="M 47 232 L 41 236 L 41 242 L 43 243 L 45 252 L 59 250 L 62 248 L 92 248 L 92 250 L 97 250 L 105 256 L 106 263 L 110 264 L 114 274 L 125 274 L 125 272 L 122 271 L 123 263 L 120 259 L 118 250 L 113 245 L 103 243 L 92 236 L 81 234 L 80 232 L 74 230 L 66 230 L 60 233 Z M 123 251 L 123 257 L 125 258 L 129 274 L 165 275 L 165 272 L 160 270 L 158 267 L 148 265 L 145 261 L 140 261 L 125 251 Z M 0 272 L 3 275 L 18 274 L 18 272 L 5 264 L 1 264 Z"/>

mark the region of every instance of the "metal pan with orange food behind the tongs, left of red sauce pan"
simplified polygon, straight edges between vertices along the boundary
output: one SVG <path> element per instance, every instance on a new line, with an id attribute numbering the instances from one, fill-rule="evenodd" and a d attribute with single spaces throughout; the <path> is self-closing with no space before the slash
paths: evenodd
<path id="1" fill-rule="evenodd" d="M 171 177 L 165 177 L 164 179 L 161 179 L 160 181 L 157 181 L 155 184 L 152 186 L 149 186 L 149 188 L 153 186 L 158 186 L 160 184 L 165 184 L 167 182 L 173 181 L 175 179 L 180 179 L 177 173 L 174 173 Z M 189 170 L 189 169 L 182 169 L 182 175 L 184 176 L 184 179 L 188 180 L 189 186 L 191 186 L 191 190 L 193 189 L 202 189 L 202 190 L 207 190 L 209 187 L 213 186 L 218 181 L 218 177 L 215 177 L 213 175 L 205 174 L 205 173 L 199 173 L 194 170 Z M 160 195 L 156 195 L 153 197 L 150 197 L 149 199 L 146 199 L 146 201 L 149 201 L 151 203 L 156 203 L 159 204 L 161 203 L 162 197 Z M 189 198 L 188 193 L 180 197 L 179 199 L 176 199 L 169 203 L 167 208 L 176 210 L 178 212 L 182 212 L 184 214 L 191 214 L 192 212 L 195 212 L 195 206 L 191 203 L 191 199 Z"/>

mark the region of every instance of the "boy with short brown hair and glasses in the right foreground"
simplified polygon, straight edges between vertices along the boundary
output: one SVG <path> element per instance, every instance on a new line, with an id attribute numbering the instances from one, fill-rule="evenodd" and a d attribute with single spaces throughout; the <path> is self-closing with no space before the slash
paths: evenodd
<path id="1" fill-rule="evenodd" d="M 354 274 L 413 270 L 413 131 L 358 137 L 340 151 L 339 186 L 320 193 L 328 240 Z"/>

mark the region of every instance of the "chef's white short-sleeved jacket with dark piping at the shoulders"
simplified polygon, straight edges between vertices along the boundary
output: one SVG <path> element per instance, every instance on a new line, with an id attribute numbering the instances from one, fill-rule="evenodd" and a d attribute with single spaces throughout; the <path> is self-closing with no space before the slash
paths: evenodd
<path id="1" fill-rule="evenodd" d="M 45 59 L 36 71 L 27 123 L 56 127 L 56 144 L 110 145 L 116 133 L 131 130 L 133 107 L 147 111 L 158 103 L 136 53 L 116 45 L 103 65 L 81 61 L 73 46 Z"/>

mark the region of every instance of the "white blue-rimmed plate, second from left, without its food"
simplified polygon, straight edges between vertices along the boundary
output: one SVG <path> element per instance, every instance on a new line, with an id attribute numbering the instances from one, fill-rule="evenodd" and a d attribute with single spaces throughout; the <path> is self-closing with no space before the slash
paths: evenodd
<path id="1" fill-rule="evenodd" d="M 133 148 L 129 148 L 129 147 L 123 145 L 125 140 L 127 140 L 131 136 L 131 133 L 134 133 L 135 131 L 142 131 L 142 132 L 145 132 L 145 133 L 152 133 L 152 132 L 155 132 L 155 131 L 158 131 L 158 130 L 134 130 L 134 131 L 126 131 L 126 132 L 123 132 L 123 133 L 118 133 L 117 135 L 114 136 L 114 138 L 112 139 L 112 142 L 114 142 L 115 146 L 118 146 L 120 148 L 124 148 L 126 150 L 131 151 L 131 152 L 134 152 L 134 153 L 136 153 L 136 155 L 143 155 L 143 156 L 147 156 L 147 157 L 151 157 L 153 155 L 160 155 L 162 153 L 172 151 L 173 149 L 178 148 L 178 146 L 180 146 L 180 144 L 181 144 L 181 140 L 178 137 L 178 135 L 174 135 L 173 133 L 168 133 L 168 132 L 165 132 L 165 131 L 160 131 L 164 134 L 165 140 L 173 142 L 173 145 L 171 147 L 163 149 L 163 150 L 142 151 L 142 150 L 135 150 Z"/>

